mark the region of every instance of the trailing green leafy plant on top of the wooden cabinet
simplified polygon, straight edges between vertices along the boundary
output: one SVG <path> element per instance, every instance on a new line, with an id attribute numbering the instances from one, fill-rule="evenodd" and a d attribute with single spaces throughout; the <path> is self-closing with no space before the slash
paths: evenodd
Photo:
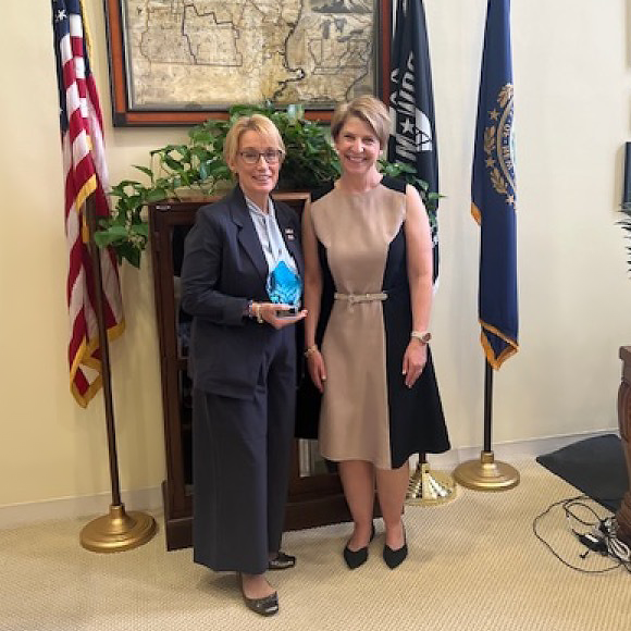
<path id="1" fill-rule="evenodd" d="M 184 190 L 209 197 L 233 182 L 233 174 L 223 161 L 223 144 L 233 122 L 242 115 L 261 113 L 279 128 L 287 154 L 281 169 L 279 188 L 311 190 L 337 178 L 339 160 L 333 149 L 329 128 L 305 119 L 299 106 L 276 110 L 263 106 L 234 106 L 227 121 L 206 121 L 188 131 L 188 141 L 166 145 L 149 153 L 149 165 L 135 164 L 148 182 L 123 180 L 112 186 L 116 198 L 112 215 L 99 222 L 95 242 L 99 247 L 111 246 L 119 262 L 124 259 L 138 268 L 147 247 L 149 227 L 145 209 L 164 199 L 182 199 Z M 436 193 L 428 193 L 428 184 L 416 171 L 401 163 L 380 160 L 380 169 L 387 175 L 401 177 L 416 186 L 425 201 L 430 221 L 435 223 Z"/>

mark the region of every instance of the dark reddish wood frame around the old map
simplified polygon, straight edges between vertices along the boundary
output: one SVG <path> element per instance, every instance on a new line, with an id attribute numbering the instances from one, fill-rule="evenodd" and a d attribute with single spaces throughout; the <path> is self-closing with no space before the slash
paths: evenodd
<path id="1" fill-rule="evenodd" d="M 123 32 L 121 0 L 103 0 L 110 62 L 110 88 L 112 98 L 112 121 L 115 127 L 123 126 L 176 126 L 195 125 L 208 119 L 225 120 L 225 110 L 148 110 L 129 107 L 127 91 L 127 59 Z M 389 92 L 389 53 L 392 39 L 392 0 L 376 0 L 376 69 L 375 87 L 384 101 Z M 306 117 L 330 122 L 332 110 L 308 110 Z"/>

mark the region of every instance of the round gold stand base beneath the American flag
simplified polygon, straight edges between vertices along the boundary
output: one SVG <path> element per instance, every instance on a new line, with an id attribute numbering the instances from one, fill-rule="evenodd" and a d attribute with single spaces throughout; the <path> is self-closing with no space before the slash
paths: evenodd
<path id="1" fill-rule="evenodd" d="M 90 552 L 132 549 L 147 543 L 156 533 L 156 520 L 145 512 L 125 512 L 125 506 L 110 505 L 110 512 L 84 527 L 81 544 Z"/>

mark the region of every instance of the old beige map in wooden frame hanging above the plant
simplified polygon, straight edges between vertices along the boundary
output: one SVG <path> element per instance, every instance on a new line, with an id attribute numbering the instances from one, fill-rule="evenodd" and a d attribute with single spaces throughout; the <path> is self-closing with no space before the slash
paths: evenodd
<path id="1" fill-rule="evenodd" d="M 391 0 L 106 0 L 114 126 L 387 94 Z"/>

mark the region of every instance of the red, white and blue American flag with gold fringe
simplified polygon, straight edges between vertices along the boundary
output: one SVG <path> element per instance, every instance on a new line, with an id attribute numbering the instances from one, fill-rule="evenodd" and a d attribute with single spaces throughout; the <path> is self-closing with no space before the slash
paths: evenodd
<path id="1" fill-rule="evenodd" d="M 52 0 L 52 27 L 65 176 L 65 234 L 70 258 L 70 382 L 77 403 L 86 407 L 101 387 L 102 367 L 85 205 L 88 197 L 94 196 L 97 218 L 110 214 L 106 195 L 108 170 L 101 109 L 90 72 L 81 0 Z M 113 338 L 124 329 L 119 270 L 111 250 L 99 252 L 104 321 L 108 336 Z"/>

